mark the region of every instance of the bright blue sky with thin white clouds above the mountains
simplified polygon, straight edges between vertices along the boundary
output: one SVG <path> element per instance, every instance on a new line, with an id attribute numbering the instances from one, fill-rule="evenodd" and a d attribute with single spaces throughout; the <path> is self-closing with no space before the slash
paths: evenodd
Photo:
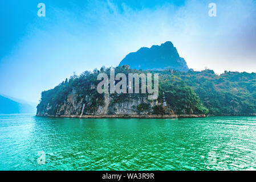
<path id="1" fill-rule="evenodd" d="M 166 41 L 195 71 L 256 72 L 255 11 L 255 0 L 0 1 L 0 93 L 38 103 L 73 72 Z"/>

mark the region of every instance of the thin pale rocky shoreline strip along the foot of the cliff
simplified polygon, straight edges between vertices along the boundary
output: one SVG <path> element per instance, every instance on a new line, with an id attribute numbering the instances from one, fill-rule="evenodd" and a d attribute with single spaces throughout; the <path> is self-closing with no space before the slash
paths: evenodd
<path id="1" fill-rule="evenodd" d="M 41 117 L 59 117 L 59 118 L 205 118 L 205 114 L 100 114 L 100 115 L 48 115 L 36 114 Z"/>

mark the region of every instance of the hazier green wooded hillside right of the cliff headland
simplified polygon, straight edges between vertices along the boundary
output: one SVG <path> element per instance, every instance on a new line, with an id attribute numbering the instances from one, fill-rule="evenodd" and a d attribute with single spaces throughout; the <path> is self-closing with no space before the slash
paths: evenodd
<path id="1" fill-rule="evenodd" d="M 256 73 L 225 72 L 218 76 L 208 69 L 174 75 L 196 92 L 209 114 L 256 113 Z"/>

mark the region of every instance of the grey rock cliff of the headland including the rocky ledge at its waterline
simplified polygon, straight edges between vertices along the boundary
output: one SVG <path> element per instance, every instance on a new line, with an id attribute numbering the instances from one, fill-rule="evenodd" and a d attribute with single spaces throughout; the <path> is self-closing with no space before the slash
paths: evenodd
<path id="1" fill-rule="evenodd" d="M 94 93 L 95 90 L 92 90 Z M 83 110 L 84 105 L 84 110 Z M 162 112 L 156 113 L 155 108 Z M 83 111 L 83 113 L 82 113 Z M 185 113 L 184 113 L 185 114 Z M 74 90 L 62 104 L 41 102 L 36 115 L 50 117 L 76 118 L 178 118 L 169 106 L 162 106 L 157 100 L 147 100 L 145 94 L 101 94 L 100 97 L 88 95 L 80 98 Z M 205 117 L 204 114 L 194 114 L 183 117 Z"/>

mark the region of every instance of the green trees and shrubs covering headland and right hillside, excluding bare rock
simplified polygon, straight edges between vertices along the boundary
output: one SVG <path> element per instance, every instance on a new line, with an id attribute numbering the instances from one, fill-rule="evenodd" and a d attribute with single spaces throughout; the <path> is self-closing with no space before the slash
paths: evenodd
<path id="1" fill-rule="evenodd" d="M 48 107 L 48 114 L 55 114 L 67 101 L 68 95 L 76 93 L 77 102 L 86 104 L 87 111 L 94 113 L 96 108 L 104 106 L 104 94 L 96 91 L 99 73 L 107 73 L 110 68 L 95 69 L 93 72 L 84 72 L 80 76 L 73 75 L 54 89 L 42 92 L 38 110 Z M 159 98 L 162 103 L 162 94 L 165 94 L 167 110 L 176 114 L 214 114 L 214 115 L 246 115 L 256 113 L 256 73 L 225 72 L 216 75 L 212 70 L 201 72 L 188 71 L 142 71 L 115 68 L 115 74 L 124 73 L 159 73 Z M 117 82 L 117 81 L 116 81 Z M 128 80 L 127 80 L 128 84 Z M 141 83 L 140 83 L 141 84 Z M 141 86 L 140 86 L 141 88 Z M 143 94 L 140 94 L 141 96 Z M 110 94 L 111 102 L 127 101 L 129 94 Z M 90 98 L 90 102 L 88 99 Z M 113 104 L 111 103 L 111 104 Z M 110 105 L 111 105 L 110 104 Z M 141 103 L 135 109 L 138 113 L 151 110 L 148 104 Z M 166 108 L 153 107 L 153 114 L 166 114 Z M 171 111 L 171 112 L 170 112 Z"/>

